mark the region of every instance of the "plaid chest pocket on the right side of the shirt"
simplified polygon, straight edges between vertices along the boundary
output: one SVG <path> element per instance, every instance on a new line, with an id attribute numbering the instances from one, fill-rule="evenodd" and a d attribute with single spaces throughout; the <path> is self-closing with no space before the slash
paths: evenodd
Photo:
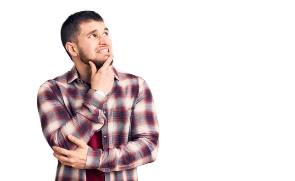
<path id="1" fill-rule="evenodd" d="M 113 134 L 112 142 L 118 147 L 128 142 L 132 110 L 113 110 Z"/>

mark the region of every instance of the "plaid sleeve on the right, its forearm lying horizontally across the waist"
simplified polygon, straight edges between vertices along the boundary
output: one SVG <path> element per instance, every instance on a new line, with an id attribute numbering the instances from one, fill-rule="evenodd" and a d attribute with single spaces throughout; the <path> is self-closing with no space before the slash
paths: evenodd
<path id="1" fill-rule="evenodd" d="M 151 91 L 142 83 L 131 121 L 132 141 L 114 148 L 89 147 L 85 169 L 103 172 L 132 169 L 153 162 L 159 144 L 159 125 Z"/>

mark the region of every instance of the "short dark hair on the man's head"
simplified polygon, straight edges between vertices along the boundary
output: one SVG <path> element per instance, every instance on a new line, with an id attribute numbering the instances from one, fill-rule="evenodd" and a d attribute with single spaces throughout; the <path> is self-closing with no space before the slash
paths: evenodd
<path id="1" fill-rule="evenodd" d="M 72 57 L 65 48 L 67 42 L 74 42 L 78 44 L 77 36 L 80 34 L 80 25 L 82 23 L 98 21 L 104 22 L 102 17 L 94 11 L 80 11 L 70 15 L 62 24 L 60 30 L 61 43 L 66 53 Z"/>

